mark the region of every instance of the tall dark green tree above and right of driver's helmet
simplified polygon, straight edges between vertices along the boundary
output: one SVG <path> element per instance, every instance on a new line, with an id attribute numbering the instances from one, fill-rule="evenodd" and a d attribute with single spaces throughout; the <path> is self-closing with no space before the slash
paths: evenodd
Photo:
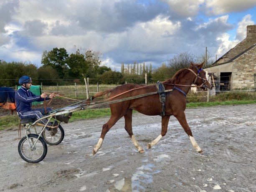
<path id="1" fill-rule="evenodd" d="M 43 51 L 41 63 L 51 66 L 57 72 L 60 78 L 64 78 L 67 68 L 68 53 L 65 48 L 53 48 L 51 51 Z"/>

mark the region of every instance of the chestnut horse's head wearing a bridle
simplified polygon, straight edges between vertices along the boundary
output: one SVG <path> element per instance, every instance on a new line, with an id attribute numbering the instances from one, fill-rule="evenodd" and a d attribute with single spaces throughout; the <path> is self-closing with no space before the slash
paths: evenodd
<path id="1" fill-rule="evenodd" d="M 203 71 L 203 63 L 191 63 L 191 66 L 188 67 L 190 71 L 192 71 L 195 74 L 195 80 L 193 81 L 193 84 L 200 86 L 200 88 L 203 89 L 203 91 L 207 91 L 207 88 L 211 87 L 211 84 L 207 80 L 206 73 Z"/>

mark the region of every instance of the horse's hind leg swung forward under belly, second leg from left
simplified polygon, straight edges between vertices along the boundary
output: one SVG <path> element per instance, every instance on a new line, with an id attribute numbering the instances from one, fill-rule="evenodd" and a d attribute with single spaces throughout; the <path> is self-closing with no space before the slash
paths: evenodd
<path id="1" fill-rule="evenodd" d="M 129 134 L 130 138 L 132 139 L 132 142 L 134 146 L 138 149 L 140 153 L 144 153 L 144 149 L 139 145 L 137 139 L 135 138 L 133 132 L 132 132 L 132 109 L 129 109 L 127 111 L 127 114 L 124 115 L 124 129 Z"/>

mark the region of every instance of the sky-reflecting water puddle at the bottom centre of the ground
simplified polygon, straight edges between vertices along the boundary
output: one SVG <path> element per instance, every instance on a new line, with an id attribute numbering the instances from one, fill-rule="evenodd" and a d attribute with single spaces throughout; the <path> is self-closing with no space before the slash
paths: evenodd
<path id="1" fill-rule="evenodd" d="M 152 169 L 153 167 L 155 167 L 155 165 L 153 164 L 147 164 L 147 165 L 142 165 L 141 167 L 138 167 L 137 169 L 139 170 L 132 175 L 132 178 L 123 178 L 122 180 L 117 181 L 114 185 L 110 186 L 109 189 L 106 190 L 106 192 L 116 192 L 117 190 L 121 192 L 139 192 L 142 190 L 147 190 L 147 187 L 149 187 L 149 184 L 153 182 L 153 175 L 161 172 L 160 170 L 154 171 Z M 113 175 L 118 176 L 119 174 L 113 174 Z M 111 183 L 112 180 L 109 180 L 109 182 Z M 165 192 L 165 191 L 162 191 L 162 192 Z"/>

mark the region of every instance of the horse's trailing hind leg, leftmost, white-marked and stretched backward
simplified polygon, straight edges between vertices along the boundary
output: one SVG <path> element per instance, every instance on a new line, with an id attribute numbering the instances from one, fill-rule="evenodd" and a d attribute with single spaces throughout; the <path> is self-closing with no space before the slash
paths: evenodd
<path id="1" fill-rule="evenodd" d="M 106 122 L 106 124 L 104 124 L 102 126 L 102 131 L 101 131 L 101 136 L 99 138 L 99 141 L 98 143 L 96 144 L 96 146 L 94 147 L 94 149 L 92 150 L 92 154 L 96 154 L 99 150 L 99 148 L 101 148 L 101 145 L 103 143 L 103 140 L 104 140 L 104 137 L 106 135 L 106 133 L 109 131 L 109 129 L 114 126 L 114 124 L 116 124 L 116 122 L 121 118 L 122 116 L 120 117 L 117 117 L 117 116 L 111 116 L 109 121 Z"/>

